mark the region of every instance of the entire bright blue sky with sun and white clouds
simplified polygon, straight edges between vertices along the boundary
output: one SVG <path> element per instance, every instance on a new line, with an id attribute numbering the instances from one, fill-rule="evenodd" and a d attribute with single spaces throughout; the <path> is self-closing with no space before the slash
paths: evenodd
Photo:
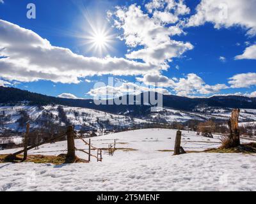
<path id="1" fill-rule="evenodd" d="M 0 1 L 0 85 L 92 98 L 162 82 L 179 96 L 256 97 L 255 1 L 205 2 Z M 94 87 L 109 77 L 121 84 Z"/>

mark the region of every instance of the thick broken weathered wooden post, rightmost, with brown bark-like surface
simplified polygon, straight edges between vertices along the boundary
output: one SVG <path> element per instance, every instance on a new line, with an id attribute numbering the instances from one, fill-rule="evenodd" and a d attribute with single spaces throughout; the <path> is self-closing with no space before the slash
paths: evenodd
<path id="1" fill-rule="evenodd" d="M 231 113 L 231 118 L 228 120 L 228 127 L 230 129 L 230 147 L 237 147 L 240 145 L 240 133 L 239 133 L 239 113 L 240 109 L 234 109 Z"/>

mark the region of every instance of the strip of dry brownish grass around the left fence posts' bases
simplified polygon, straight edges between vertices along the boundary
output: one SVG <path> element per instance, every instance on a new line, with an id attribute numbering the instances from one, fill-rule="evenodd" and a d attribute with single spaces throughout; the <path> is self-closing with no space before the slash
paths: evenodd
<path id="1" fill-rule="evenodd" d="M 0 155 L 0 163 L 19 163 L 22 161 L 23 156 L 18 155 L 14 159 L 8 159 L 8 156 L 10 154 L 2 154 Z M 6 158 L 7 157 L 7 158 Z M 45 155 L 28 155 L 28 158 L 24 162 L 32 162 L 32 163 L 51 163 L 51 164 L 65 164 L 67 163 L 66 154 L 60 154 L 59 156 L 45 156 Z M 84 159 L 79 159 L 76 157 L 75 161 L 72 161 L 72 163 L 88 163 L 88 161 Z"/>

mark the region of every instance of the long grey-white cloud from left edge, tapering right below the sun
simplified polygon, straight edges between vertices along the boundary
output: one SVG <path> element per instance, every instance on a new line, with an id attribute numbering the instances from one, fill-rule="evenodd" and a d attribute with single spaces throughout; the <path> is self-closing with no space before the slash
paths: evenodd
<path id="1" fill-rule="evenodd" d="M 79 83 L 92 75 L 141 75 L 159 69 L 150 63 L 116 57 L 84 57 L 55 47 L 38 34 L 0 20 L 0 75 L 6 80 Z M 5 56 L 3 58 L 3 56 Z"/>

